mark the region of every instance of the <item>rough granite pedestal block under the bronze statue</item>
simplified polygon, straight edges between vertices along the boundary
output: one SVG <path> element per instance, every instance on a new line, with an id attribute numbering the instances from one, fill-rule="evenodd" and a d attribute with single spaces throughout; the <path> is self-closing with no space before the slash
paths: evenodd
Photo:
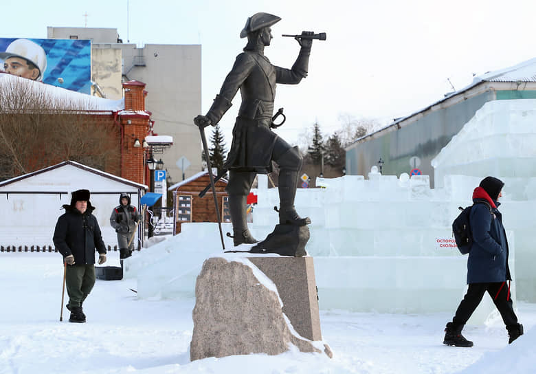
<path id="1" fill-rule="evenodd" d="M 263 263 L 266 259 L 270 258 L 258 257 L 254 261 L 260 263 L 268 272 L 275 271 L 277 265 L 282 264 L 274 265 L 271 261 Z M 308 259 L 311 259 L 312 265 L 312 258 Z M 194 331 L 190 342 L 191 360 L 249 353 L 277 355 L 287 351 L 291 344 L 302 352 L 321 353 L 323 350 L 329 357 L 333 356 L 331 349 L 324 342 L 311 341 L 296 332 L 300 329 L 305 335 L 320 340 L 320 322 L 315 326 L 307 322 L 307 319 L 312 319 L 310 316 L 314 313 L 297 310 L 310 307 L 303 301 L 309 296 L 302 298 L 296 295 L 297 300 L 302 300 L 302 305 L 293 305 L 289 300 L 287 305 L 282 306 L 282 298 L 278 294 L 278 289 L 283 285 L 281 279 L 278 280 L 280 285 L 276 286 L 276 289 L 269 278 L 248 259 L 235 256 L 228 260 L 222 257 L 206 260 L 197 277 L 196 304 L 192 313 Z M 281 260 L 294 259 L 286 257 Z M 305 259 L 301 260 L 305 263 Z M 289 263 L 288 267 L 292 265 Z M 306 274 L 299 267 L 298 265 L 296 272 Z M 298 283 L 297 279 L 293 281 Z M 292 285 L 288 288 L 309 289 L 309 286 Z M 314 299 L 316 300 L 316 296 Z M 287 307 L 293 318 L 304 318 L 305 322 L 291 322 L 294 327 L 292 329 L 284 318 L 282 307 Z"/>

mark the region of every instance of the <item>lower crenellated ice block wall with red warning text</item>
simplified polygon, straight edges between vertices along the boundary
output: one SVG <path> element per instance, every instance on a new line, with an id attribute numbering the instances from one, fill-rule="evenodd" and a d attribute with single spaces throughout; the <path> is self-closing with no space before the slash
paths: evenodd
<path id="1" fill-rule="evenodd" d="M 317 178 L 323 188 L 298 189 L 300 215 L 311 217 L 307 252 L 315 257 L 319 303 L 324 309 L 421 313 L 454 311 L 465 292 L 467 256 L 451 236 L 458 206 L 471 203 L 473 181 L 457 190 L 432 189 L 427 175 L 347 175 Z M 458 181 L 458 179 L 456 179 Z M 454 182 L 456 182 L 454 181 Z M 449 181 L 451 183 L 451 181 Z M 477 184 L 478 185 L 478 184 Z M 259 176 L 254 235 L 277 223 L 276 188 Z M 513 266 L 514 243 L 511 239 Z M 493 309 L 480 308 L 474 321 Z"/>

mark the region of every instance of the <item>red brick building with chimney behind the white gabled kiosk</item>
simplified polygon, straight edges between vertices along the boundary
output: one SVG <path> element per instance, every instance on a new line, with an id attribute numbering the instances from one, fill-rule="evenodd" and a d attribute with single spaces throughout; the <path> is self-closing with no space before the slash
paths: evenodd
<path id="1" fill-rule="evenodd" d="M 45 85 L 10 74 L 0 74 L 0 91 L 9 93 L 18 91 L 25 96 L 31 95 L 30 101 L 37 100 L 37 98 L 43 101 L 44 104 L 37 109 L 40 111 L 38 114 L 49 118 L 48 122 L 42 125 L 45 128 L 36 129 L 36 131 L 44 131 L 45 133 L 65 131 L 65 129 L 83 124 L 91 131 L 105 132 L 107 136 L 104 140 L 100 140 L 100 143 L 105 149 L 111 151 L 107 152 L 104 158 L 101 157 L 98 164 L 88 162 L 85 164 L 146 185 L 148 184 L 148 168 L 144 164 L 144 155 L 148 148 L 144 148 L 142 144 L 144 144 L 147 135 L 153 135 L 154 124 L 154 121 L 151 120 L 151 113 L 145 109 L 145 99 L 148 93 L 145 91 L 145 83 L 137 80 L 125 82 L 122 87 L 124 98 L 109 100 Z M 12 104 L 9 100 L 5 96 L 0 98 L 0 107 L 2 107 L 0 121 L 3 124 L 8 125 L 10 120 L 14 126 L 22 122 L 32 122 L 29 121 L 29 117 L 36 116 L 34 107 L 30 109 L 25 109 L 23 105 L 9 107 Z M 53 110 L 49 110 L 47 106 Z M 12 119 L 14 115 L 18 116 L 17 120 Z M 55 117 L 52 118 L 52 116 Z M 64 122 L 63 130 L 57 129 L 60 122 Z M 54 124 L 54 128 L 47 127 L 51 124 Z M 16 135 L 14 136 L 14 140 L 16 140 Z M 54 144 L 56 146 L 54 148 L 39 137 L 40 134 L 35 133 L 35 139 L 32 140 L 35 141 L 35 144 L 25 142 L 15 144 L 15 146 L 19 146 L 19 149 L 13 151 L 14 155 L 17 158 L 25 157 L 26 163 L 22 170 L 16 169 L 16 165 L 14 165 L 11 177 L 67 161 L 64 159 L 65 153 L 58 152 L 58 144 Z M 47 146 L 43 146 L 43 144 Z M 98 151 L 91 146 L 82 151 L 82 154 L 88 155 L 88 157 L 97 157 L 96 153 Z M 84 162 L 78 159 L 76 161 Z"/>

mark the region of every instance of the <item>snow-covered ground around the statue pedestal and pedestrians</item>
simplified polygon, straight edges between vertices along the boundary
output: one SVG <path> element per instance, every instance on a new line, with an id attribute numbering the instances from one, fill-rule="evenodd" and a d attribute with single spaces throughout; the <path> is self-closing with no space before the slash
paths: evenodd
<path id="1" fill-rule="evenodd" d="M 117 252 L 109 254 L 109 265 L 118 262 Z M 465 336 L 475 347 L 461 349 L 442 344 L 451 314 L 320 311 L 331 360 L 289 351 L 190 362 L 194 299 L 141 300 L 130 290 L 135 279 L 98 280 L 84 305 L 87 323 L 67 322 L 65 307 L 60 322 L 62 277 L 60 254 L 0 254 L 1 374 L 520 374 L 536 368 L 534 304 L 517 305 L 526 333 L 511 345 L 499 318 L 467 327 Z"/>

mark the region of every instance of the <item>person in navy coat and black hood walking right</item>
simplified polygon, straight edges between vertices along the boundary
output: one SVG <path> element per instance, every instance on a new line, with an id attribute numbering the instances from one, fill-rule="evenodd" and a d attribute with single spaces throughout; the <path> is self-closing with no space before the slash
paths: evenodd
<path id="1" fill-rule="evenodd" d="M 473 207 L 469 214 L 473 245 L 467 259 L 469 286 L 452 322 L 447 323 L 444 344 L 473 347 L 473 342 L 462 336 L 462 329 L 486 292 L 506 325 L 509 343 L 523 335 L 523 325 L 517 322 L 510 297 L 509 248 L 502 214 L 498 210 L 503 186 L 500 179 L 485 177 L 473 191 Z M 506 281 L 509 283 L 506 284 Z"/>

